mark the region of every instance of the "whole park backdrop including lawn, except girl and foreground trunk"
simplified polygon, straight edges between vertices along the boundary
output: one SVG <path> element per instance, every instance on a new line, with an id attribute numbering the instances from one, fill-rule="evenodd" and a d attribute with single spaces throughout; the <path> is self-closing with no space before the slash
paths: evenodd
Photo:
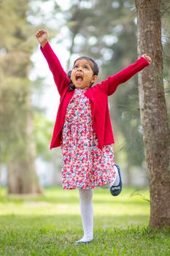
<path id="1" fill-rule="evenodd" d="M 169 1 L 160 11 L 169 118 Z M 137 76 L 109 97 L 124 189 L 114 200 L 94 189 L 96 240 L 87 248 L 73 246 L 82 235 L 77 190 L 61 189 L 61 149 L 50 151 L 59 95 L 36 31 L 47 30 L 66 71 L 89 55 L 104 80 L 139 57 L 136 15 L 134 0 L 0 0 L 0 255 L 170 255 L 168 230 L 147 229 Z"/>

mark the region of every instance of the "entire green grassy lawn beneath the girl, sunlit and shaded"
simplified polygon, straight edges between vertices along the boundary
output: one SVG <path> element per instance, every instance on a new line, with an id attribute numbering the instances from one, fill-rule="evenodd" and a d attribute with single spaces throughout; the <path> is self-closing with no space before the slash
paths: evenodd
<path id="1" fill-rule="evenodd" d="M 47 188 L 41 196 L 0 189 L 0 255 L 170 255 L 170 231 L 147 229 L 150 203 L 123 188 L 118 197 L 93 190 L 94 240 L 82 237 L 78 191 Z M 149 199 L 148 191 L 141 194 Z"/>

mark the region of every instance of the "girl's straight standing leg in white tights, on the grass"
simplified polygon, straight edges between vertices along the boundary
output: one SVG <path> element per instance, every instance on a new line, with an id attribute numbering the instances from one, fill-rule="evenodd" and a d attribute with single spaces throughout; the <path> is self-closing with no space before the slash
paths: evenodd
<path id="1" fill-rule="evenodd" d="M 82 239 L 80 239 L 80 241 L 75 242 L 75 244 L 81 244 L 81 242 L 88 242 L 93 240 L 93 190 L 79 189 L 79 195 L 84 236 Z"/>

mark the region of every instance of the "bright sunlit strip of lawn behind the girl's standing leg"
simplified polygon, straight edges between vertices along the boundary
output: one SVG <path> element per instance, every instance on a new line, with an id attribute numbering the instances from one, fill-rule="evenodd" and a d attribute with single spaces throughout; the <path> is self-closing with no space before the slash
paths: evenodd
<path id="1" fill-rule="evenodd" d="M 124 188 L 121 195 L 112 197 L 109 189 L 93 190 L 95 217 L 148 216 L 150 205 L 139 195 L 132 196 L 133 188 Z M 148 191 L 143 192 L 148 198 Z M 18 216 L 80 216 L 78 190 L 63 190 L 61 187 L 47 188 L 44 195 L 5 195 L 0 197 L 0 215 Z M 127 223 L 128 224 L 128 223 Z"/>

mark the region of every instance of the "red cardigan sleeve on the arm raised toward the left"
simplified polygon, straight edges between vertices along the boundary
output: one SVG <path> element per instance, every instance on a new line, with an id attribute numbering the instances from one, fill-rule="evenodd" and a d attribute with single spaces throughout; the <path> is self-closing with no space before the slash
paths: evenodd
<path id="1" fill-rule="evenodd" d="M 61 95 L 63 93 L 63 89 L 69 85 L 70 80 L 67 77 L 66 72 L 64 72 L 63 67 L 61 67 L 61 63 L 58 60 L 58 57 L 55 55 L 53 49 L 50 47 L 49 42 L 47 42 L 43 48 L 41 46 L 40 49 L 42 50 L 42 53 L 47 60 L 47 64 L 53 73 L 53 78 L 58 88 L 58 93 Z"/>

